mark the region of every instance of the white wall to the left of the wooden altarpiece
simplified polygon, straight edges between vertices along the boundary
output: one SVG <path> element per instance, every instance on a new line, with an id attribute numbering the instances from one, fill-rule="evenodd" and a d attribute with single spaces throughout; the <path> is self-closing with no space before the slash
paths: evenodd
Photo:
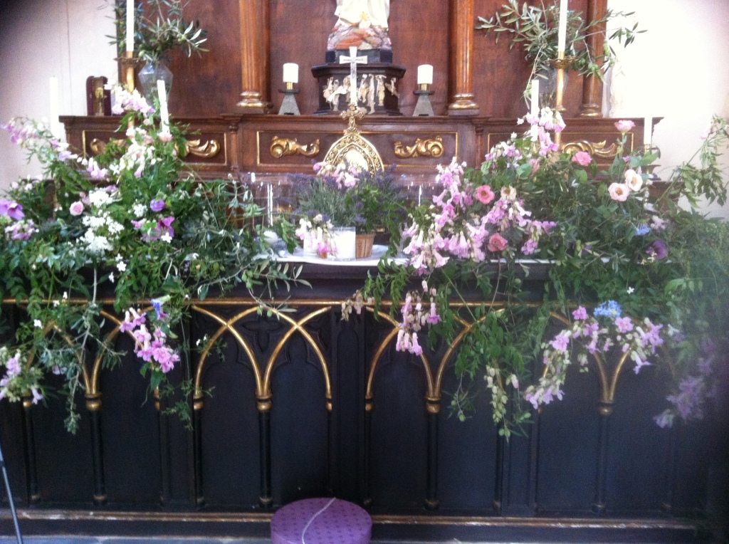
<path id="1" fill-rule="evenodd" d="M 58 77 L 61 114 L 86 114 L 86 78 L 117 79 L 112 4 L 106 0 L 9 0 L 0 4 L 0 123 L 50 109 L 50 77 Z M 40 174 L 0 131 L 0 188 Z"/>

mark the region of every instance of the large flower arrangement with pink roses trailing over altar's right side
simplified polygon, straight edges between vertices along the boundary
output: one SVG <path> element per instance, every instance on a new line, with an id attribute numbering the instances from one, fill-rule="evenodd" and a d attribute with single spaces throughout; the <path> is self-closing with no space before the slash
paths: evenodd
<path id="1" fill-rule="evenodd" d="M 615 160 L 599 171 L 588 152 L 558 151 L 558 114 L 525 121 L 524 135 L 496 145 L 478 170 L 439 168 L 442 192 L 410 212 L 407 263 L 381 263 L 343 316 L 389 298 L 396 348 L 415 355 L 461 335 L 453 411 L 467 417 L 483 377 L 506 437 L 560 399 L 569 366 L 587 370 L 590 358 L 668 373 L 675 391 L 658 424 L 700 417 L 729 349 L 719 325 L 729 316 L 729 227 L 672 198 L 725 201 L 716 158 L 728 123 L 714 119 L 701 164 L 676 168 L 655 197 L 647 169 L 658 154 L 625 152 L 631 122 L 616 123 Z M 542 293 L 526 287 L 534 266 L 547 267 Z M 551 336 L 554 316 L 564 330 Z"/>

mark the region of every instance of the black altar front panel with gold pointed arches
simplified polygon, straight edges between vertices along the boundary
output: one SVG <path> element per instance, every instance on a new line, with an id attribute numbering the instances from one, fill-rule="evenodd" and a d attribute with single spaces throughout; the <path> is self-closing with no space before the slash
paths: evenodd
<path id="1" fill-rule="evenodd" d="M 654 368 L 571 371 L 564 400 L 507 441 L 486 392 L 467 421 L 451 417 L 461 335 L 422 357 L 395 351 L 386 308 L 340 320 L 361 271 L 321 270 L 313 290 L 293 293 L 293 314 L 195 302 L 182 338 L 213 342 L 171 373 L 195 381 L 191 430 L 147 395 L 133 355 L 114 370 L 88 363 L 75 436 L 62 400 L 3 401 L 26 532 L 265 535 L 278 506 L 334 494 L 366 506 L 380 537 L 694 540 L 707 503 L 722 500 L 710 478 L 726 429 L 658 428 L 667 384 Z M 107 333 L 131 353 L 109 302 Z M 1 524 L 9 533 L 7 513 Z"/>

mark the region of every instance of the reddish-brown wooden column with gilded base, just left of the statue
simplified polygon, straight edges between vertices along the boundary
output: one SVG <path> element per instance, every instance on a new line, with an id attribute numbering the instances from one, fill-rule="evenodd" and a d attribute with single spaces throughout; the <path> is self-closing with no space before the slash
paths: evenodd
<path id="1" fill-rule="evenodd" d="M 243 71 L 243 92 L 238 107 L 246 113 L 264 113 L 264 82 L 268 76 L 263 72 L 267 63 L 264 58 L 265 34 L 261 28 L 263 4 L 268 0 L 239 0 L 241 15 L 241 69 Z M 268 12 L 268 9 L 266 9 Z"/>

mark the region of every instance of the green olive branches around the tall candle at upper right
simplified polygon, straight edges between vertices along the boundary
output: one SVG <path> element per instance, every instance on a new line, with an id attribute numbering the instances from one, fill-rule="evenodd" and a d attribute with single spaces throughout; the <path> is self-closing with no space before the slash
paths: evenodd
<path id="1" fill-rule="evenodd" d="M 574 58 L 570 69 L 580 74 L 593 74 L 602 78 L 602 73 L 615 63 L 615 50 L 606 42 L 602 54 L 593 52 L 588 47 L 587 38 L 591 34 L 601 32 L 612 20 L 630 17 L 633 13 L 614 12 L 608 9 L 604 17 L 585 21 L 580 12 L 570 11 L 567 15 L 567 56 Z M 534 77 L 546 77 L 550 69 L 550 61 L 557 58 L 559 7 L 557 2 L 541 1 L 539 5 L 524 2 L 521 7 L 518 0 L 507 0 L 502 11 L 486 19 L 479 17 L 476 28 L 486 32 L 494 32 L 496 42 L 502 34 L 511 37 L 510 49 L 518 44 L 524 51 L 527 61 L 531 63 L 529 85 Z M 637 24 L 631 28 L 620 26 L 609 30 L 609 39 L 617 39 L 619 43 L 631 44 L 636 34 L 644 31 L 636 30 Z M 529 86 L 525 91 L 525 96 Z"/>

